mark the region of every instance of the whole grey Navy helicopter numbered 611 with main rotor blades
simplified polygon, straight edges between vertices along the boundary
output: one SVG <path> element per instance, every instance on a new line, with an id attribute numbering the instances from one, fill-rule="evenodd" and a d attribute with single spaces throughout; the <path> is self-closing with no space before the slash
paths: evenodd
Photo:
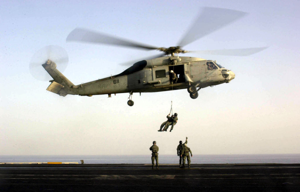
<path id="1" fill-rule="evenodd" d="M 178 46 L 167 48 L 149 46 L 84 28 L 76 28 L 68 35 L 67 42 L 103 43 L 146 50 L 158 50 L 162 51 L 163 54 L 136 62 L 117 75 L 80 85 L 74 85 L 69 81 L 56 69 L 56 63 L 48 59 L 46 63 L 42 64 L 53 78 L 47 90 L 60 96 L 108 94 L 108 97 L 111 97 L 112 94 L 129 93 L 127 102 L 129 106 L 133 106 L 134 104 L 132 101 L 133 93 L 140 93 L 141 95 L 142 92 L 187 89 L 190 97 L 196 99 L 198 91 L 201 88 L 229 83 L 235 78 L 235 74 L 231 70 L 217 64 L 216 61 L 197 57 L 179 57 L 178 54 L 188 52 L 183 50 L 182 47 L 245 15 L 245 12 L 230 9 L 204 7 L 194 24 L 179 41 Z M 265 48 L 267 47 L 196 51 L 196 53 L 247 56 L 260 52 Z M 173 80 L 175 77 L 177 77 L 177 81 Z"/>

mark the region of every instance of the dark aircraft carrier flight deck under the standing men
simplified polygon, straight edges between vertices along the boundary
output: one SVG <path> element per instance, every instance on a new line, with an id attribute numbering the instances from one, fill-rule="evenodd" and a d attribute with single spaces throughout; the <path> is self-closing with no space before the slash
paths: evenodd
<path id="1" fill-rule="evenodd" d="M 300 191 L 300 164 L 0 164 L 0 191 Z"/>

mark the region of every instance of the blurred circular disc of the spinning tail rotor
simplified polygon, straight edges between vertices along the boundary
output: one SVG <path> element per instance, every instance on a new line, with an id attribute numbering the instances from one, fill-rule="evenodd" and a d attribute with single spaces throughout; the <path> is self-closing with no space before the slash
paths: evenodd
<path id="1" fill-rule="evenodd" d="M 63 72 L 69 62 L 68 53 L 62 47 L 56 45 L 49 45 L 38 50 L 32 57 L 29 63 L 30 73 L 34 78 L 40 81 L 49 81 L 52 77 L 42 67 L 42 64 L 47 60 L 57 64 L 57 69 Z"/>

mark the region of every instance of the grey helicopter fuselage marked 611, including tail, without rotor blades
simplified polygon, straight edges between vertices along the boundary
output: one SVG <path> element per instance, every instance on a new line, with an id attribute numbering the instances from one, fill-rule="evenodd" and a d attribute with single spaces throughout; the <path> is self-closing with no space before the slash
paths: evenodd
<path id="1" fill-rule="evenodd" d="M 118 75 L 75 86 L 56 69 L 54 62 L 49 61 L 42 66 L 54 79 L 47 90 L 61 96 L 108 94 L 110 97 L 117 93 L 171 91 L 191 86 L 198 87 L 199 91 L 207 86 L 228 83 L 235 77 L 232 71 L 211 60 L 166 56 L 143 60 Z M 192 91 L 189 92 L 196 93 L 196 90 Z"/>

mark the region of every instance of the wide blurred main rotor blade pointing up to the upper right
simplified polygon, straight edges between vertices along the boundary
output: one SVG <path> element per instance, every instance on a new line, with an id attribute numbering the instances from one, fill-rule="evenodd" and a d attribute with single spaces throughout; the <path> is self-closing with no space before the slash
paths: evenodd
<path id="1" fill-rule="evenodd" d="M 201 37 L 225 27 L 246 14 L 246 12 L 235 11 L 232 9 L 204 7 L 178 45 L 182 47 L 194 42 Z"/>

